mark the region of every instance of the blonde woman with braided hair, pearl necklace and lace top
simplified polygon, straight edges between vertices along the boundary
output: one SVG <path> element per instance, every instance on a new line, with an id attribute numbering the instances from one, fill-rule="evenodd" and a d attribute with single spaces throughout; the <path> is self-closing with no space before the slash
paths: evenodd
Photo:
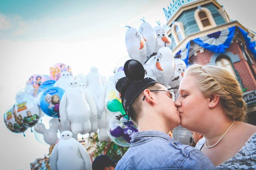
<path id="1" fill-rule="evenodd" d="M 230 71 L 191 65 L 178 93 L 181 126 L 204 136 L 196 148 L 218 169 L 256 168 L 256 126 L 243 122 L 247 105 Z"/>

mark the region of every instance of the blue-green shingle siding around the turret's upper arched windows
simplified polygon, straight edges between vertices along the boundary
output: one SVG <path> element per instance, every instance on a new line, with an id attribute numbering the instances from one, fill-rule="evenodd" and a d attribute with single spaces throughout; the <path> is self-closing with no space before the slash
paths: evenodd
<path id="1" fill-rule="evenodd" d="M 215 23 L 217 25 L 221 25 L 221 24 L 226 23 L 226 21 L 223 19 L 221 14 L 219 14 L 217 8 L 213 5 L 213 3 L 208 3 L 208 4 L 205 4 L 205 5 L 202 5 L 201 7 L 208 8 L 211 11 L 211 14 L 212 14 L 212 16 L 215 20 Z M 176 22 L 182 22 L 183 23 L 185 36 L 200 31 L 199 28 L 198 28 L 197 23 L 195 22 L 195 18 L 194 18 L 195 10 L 197 10 L 197 7 L 184 11 L 175 20 Z M 173 38 L 172 35 L 170 35 L 169 37 L 172 40 L 172 45 L 170 46 L 170 49 L 173 49 L 176 46 L 176 43 L 175 43 L 174 38 Z"/>

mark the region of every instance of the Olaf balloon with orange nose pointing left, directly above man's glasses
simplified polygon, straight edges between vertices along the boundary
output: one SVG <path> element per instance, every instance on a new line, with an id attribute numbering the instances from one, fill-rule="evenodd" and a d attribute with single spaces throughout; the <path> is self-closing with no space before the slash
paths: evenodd
<path id="1" fill-rule="evenodd" d="M 160 83 L 169 84 L 175 71 L 174 57 L 169 47 L 159 49 L 155 57 L 155 75 Z"/>

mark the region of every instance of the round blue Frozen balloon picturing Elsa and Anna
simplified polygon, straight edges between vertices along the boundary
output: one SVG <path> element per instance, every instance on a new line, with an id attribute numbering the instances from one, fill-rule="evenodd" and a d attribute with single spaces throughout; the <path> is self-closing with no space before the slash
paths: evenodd
<path id="1" fill-rule="evenodd" d="M 48 116 L 59 117 L 59 104 L 64 92 L 59 87 L 50 87 L 45 90 L 40 98 L 42 111 Z"/>

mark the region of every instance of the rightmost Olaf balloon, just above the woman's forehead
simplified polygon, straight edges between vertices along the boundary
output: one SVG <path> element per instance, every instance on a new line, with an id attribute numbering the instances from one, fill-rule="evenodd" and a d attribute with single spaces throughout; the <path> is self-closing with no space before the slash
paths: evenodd
<path id="1" fill-rule="evenodd" d="M 174 58 L 175 72 L 169 86 L 176 92 L 178 92 L 179 83 L 183 78 L 184 71 L 186 70 L 186 63 L 181 58 Z"/>

